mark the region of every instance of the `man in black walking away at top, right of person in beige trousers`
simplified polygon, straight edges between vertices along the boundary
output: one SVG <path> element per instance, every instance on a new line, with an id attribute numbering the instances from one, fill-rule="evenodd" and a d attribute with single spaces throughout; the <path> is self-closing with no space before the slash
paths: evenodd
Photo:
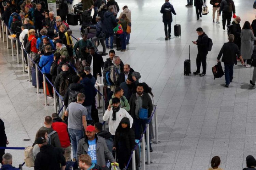
<path id="1" fill-rule="evenodd" d="M 226 21 L 227 26 L 230 25 L 232 13 L 236 14 L 236 7 L 234 6 L 233 0 L 222 0 L 221 6 L 219 8 L 219 16 L 221 16 L 222 12 L 222 26 L 223 30 L 225 30 Z"/>

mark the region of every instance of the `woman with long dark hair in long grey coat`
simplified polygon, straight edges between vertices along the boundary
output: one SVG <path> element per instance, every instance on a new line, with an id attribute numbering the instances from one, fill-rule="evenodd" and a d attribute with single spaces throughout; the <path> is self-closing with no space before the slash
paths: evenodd
<path id="1" fill-rule="evenodd" d="M 241 55 L 244 63 L 246 61 L 246 67 L 251 67 L 251 57 L 254 50 L 253 41 L 255 39 L 250 22 L 245 21 L 241 31 Z"/>

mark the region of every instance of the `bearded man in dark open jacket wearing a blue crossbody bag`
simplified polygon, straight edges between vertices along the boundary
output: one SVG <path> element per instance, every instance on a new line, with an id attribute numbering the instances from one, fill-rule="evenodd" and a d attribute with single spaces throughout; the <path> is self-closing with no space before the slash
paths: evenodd
<path id="1" fill-rule="evenodd" d="M 144 93 L 144 87 L 142 83 L 139 83 L 136 86 L 137 93 L 132 94 L 130 98 L 130 114 L 134 120 L 133 127 L 135 133 L 135 139 L 140 139 L 141 137 L 141 126 L 143 130 L 146 128 L 146 123 L 151 116 L 153 111 L 153 104 L 150 96 L 147 93 Z M 139 117 L 140 112 L 143 112 L 143 109 L 147 109 L 147 117 L 148 119 L 141 119 Z M 105 115 L 104 115 L 105 116 Z M 150 142 L 150 152 L 153 152 Z"/>

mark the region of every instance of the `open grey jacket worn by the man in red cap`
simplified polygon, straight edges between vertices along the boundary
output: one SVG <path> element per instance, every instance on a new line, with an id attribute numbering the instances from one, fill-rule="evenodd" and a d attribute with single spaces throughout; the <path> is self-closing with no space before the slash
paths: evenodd
<path id="1" fill-rule="evenodd" d="M 109 151 L 106 146 L 105 139 L 97 136 L 95 134 L 96 139 L 96 157 L 97 157 L 97 165 L 104 167 L 106 166 L 106 160 L 109 160 L 111 163 L 115 162 L 115 159 L 112 156 L 112 153 Z M 77 157 L 82 154 L 87 154 L 88 152 L 88 138 L 87 136 L 79 141 L 77 146 Z M 106 158 L 106 159 L 105 159 Z"/>

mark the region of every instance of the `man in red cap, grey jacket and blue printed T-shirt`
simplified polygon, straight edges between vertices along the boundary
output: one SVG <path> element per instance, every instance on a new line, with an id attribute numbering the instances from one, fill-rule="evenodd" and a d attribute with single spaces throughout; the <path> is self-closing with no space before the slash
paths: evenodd
<path id="1" fill-rule="evenodd" d="M 86 137 L 81 139 L 77 146 L 77 157 L 81 154 L 88 154 L 91 157 L 91 162 L 101 167 L 106 166 L 106 160 L 116 163 L 106 146 L 105 139 L 95 134 L 94 126 L 87 126 L 85 134 Z"/>

